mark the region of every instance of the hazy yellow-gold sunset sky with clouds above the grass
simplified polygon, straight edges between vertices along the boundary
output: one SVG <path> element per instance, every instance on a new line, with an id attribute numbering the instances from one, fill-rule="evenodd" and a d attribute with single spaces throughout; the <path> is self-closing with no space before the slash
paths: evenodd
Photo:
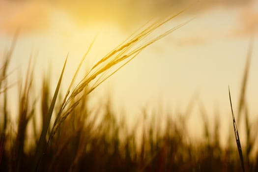
<path id="1" fill-rule="evenodd" d="M 114 110 L 125 111 L 128 120 L 134 122 L 145 107 L 158 110 L 162 106 L 173 115 L 183 112 L 194 97 L 198 103 L 196 113 L 190 118 L 192 128 L 200 129 L 199 125 L 196 127 L 201 120 L 200 106 L 210 114 L 211 121 L 216 111 L 227 119 L 224 121 L 229 121 L 228 85 L 236 109 L 253 37 L 247 101 L 255 119 L 258 115 L 257 0 L 0 0 L 0 57 L 19 30 L 10 70 L 24 73 L 32 53 L 35 85 L 40 86 L 42 76 L 51 73 L 51 84 L 55 86 L 69 52 L 63 80 L 65 90 L 94 39 L 79 78 L 88 64 L 114 49 L 147 21 L 185 8 L 188 10 L 156 34 L 193 20 L 147 47 L 94 90 L 90 95 L 92 104 L 108 95 Z"/>

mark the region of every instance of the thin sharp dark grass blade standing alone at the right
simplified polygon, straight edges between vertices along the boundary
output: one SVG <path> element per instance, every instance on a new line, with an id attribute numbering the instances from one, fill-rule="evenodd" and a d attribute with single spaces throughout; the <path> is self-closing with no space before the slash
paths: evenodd
<path id="1" fill-rule="evenodd" d="M 239 135 L 238 135 L 238 130 L 237 130 L 236 122 L 235 122 L 235 116 L 234 116 L 234 113 L 233 113 L 230 90 L 229 90 L 229 101 L 230 101 L 230 107 L 231 107 L 231 113 L 232 113 L 232 119 L 233 119 L 235 141 L 236 141 L 236 145 L 237 145 L 237 149 L 238 149 L 238 154 L 239 154 L 240 161 L 241 161 L 242 170 L 243 170 L 243 172 L 245 172 L 244 158 L 243 158 L 241 143 L 240 143 L 240 139 L 239 139 Z"/>

